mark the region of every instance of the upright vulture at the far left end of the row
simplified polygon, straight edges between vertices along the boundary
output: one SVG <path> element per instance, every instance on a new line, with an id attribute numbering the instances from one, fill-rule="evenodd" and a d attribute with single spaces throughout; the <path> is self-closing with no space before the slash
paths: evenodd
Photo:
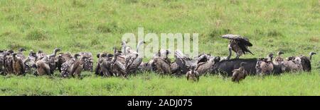
<path id="1" fill-rule="evenodd" d="M 11 74 L 14 73 L 14 67 L 13 67 L 13 56 L 14 51 L 8 50 L 4 53 L 4 73 Z"/>

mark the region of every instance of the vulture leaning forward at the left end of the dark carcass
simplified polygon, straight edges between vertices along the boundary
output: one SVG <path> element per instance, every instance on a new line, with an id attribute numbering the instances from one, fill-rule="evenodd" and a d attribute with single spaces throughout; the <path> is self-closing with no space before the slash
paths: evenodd
<path id="1" fill-rule="evenodd" d="M 201 58 L 201 57 L 199 57 Z M 213 71 L 213 65 L 215 64 L 215 62 L 219 62 L 220 61 L 220 57 L 213 57 L 213 56 L 207 56 L 208 59 L 205 62 L 200 62 L 198 60 L 198 64 L 196 66 L 196 71 L 200 74 L 203 75 L 205 73 L 210 73 Z"/>

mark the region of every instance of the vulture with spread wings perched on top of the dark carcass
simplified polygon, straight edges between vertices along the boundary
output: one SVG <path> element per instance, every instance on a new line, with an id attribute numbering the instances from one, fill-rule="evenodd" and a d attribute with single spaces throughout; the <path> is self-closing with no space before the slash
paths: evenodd
<path id="1" fill-rule="evenodd" d="M 230 39 L 228 48 L 229 48 L 229 56 L 228 60 L 231 57 L 232 51 L 235 51 L 235 54 L 237 54 L 235 59 L 239 59 L 239 57 L 242 54 L 246 54 L 249 52 L 252 54 L 252 52 L 248 49 L 248 47 L 252 47 L 252 44 L 249 42 L 249 39 L 246 37 L 241 37 L 240 35 L 223 35 L 223 38 Z M 232 51 L 231 51 L 232 50 Z"/>

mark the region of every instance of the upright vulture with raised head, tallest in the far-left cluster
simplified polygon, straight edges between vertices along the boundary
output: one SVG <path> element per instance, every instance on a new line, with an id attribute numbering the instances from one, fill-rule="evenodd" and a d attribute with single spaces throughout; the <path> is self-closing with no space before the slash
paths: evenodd
<path id="1" fill-rule="evenodd" d="M 53 54 L 48 55 L 48 62 L 50 67 L 50 73 L 53 74 L 55 69 L 57 68 L 58 59 L 55 57 L 57 55 L 57 52 L 61 51 L 59 48 L 55 48 L 53 50 Z"/>

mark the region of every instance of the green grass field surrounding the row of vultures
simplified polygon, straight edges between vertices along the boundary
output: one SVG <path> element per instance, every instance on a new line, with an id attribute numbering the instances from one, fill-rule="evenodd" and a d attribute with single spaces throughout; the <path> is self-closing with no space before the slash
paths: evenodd
<path id="1" fill-rule="evenodd" d="M 0 1 L 0 49 L 24 47 L 50 53 L 55 47 L 92 54 L 120 46 L 124 33 L 199 33 L 199 51 L 228 55 L 228 33 L 244 35 L 255 55 L 320 54 L 319 0 L 8 0 Z M 26 55 L 28 52 L 25 53 Z M 233 56 L 235 57 L 235 56 Z M 233 83 L 218 75 L 186 78 L 139 73 L 129 79 L 0 76 L 0 95 L 320 95 L 320 56 L 311 73 L 250 76 Z M 146 61 L 147 59 L 145 59 Z M 95 59 L 96 61 L 96 59 Z"/>

